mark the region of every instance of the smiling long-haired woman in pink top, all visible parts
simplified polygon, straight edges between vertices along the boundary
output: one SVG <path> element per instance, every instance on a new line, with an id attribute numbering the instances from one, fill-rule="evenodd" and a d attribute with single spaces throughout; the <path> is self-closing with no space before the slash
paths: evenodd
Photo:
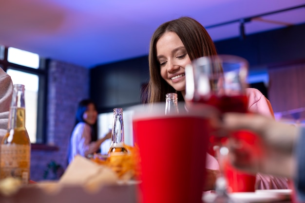
<path id="1" fill-rule="evenodd" d="M 178 101 L 186 101 L 188 109 L 190 101 L 185 100 L 185 67 L 196 58 L 217 55 L 215 45 L 206 29 L 195 19 L 177 18 L 160 25 L 152 35 L 149 52 L 150 80 L 144 94 L 148 103 L 165 102 L 165 95 L 176 92 Z M 258 90 L 246 88 L 248 111 L 273 116 L 273 110 L 267 98 Z M 191 135 L 186 135 L 191 136 Z M 204 136 L 204 135 L 203 135 Z M 206 168 L 217 166 L 214 157 L 207 162 Z M 216 168 L 216 169 L 215 169 Z M 207 170 L 215 178 L 217 167 Z M 203 171 L 204 172 L 204 171 Z M 215 173 L 214 173 L 215 172 Z M 213 180 L 211 178 L 211 180 Z M 214 182 L 206 183 L 205 190 L 214 189 Z M 257 174 L 257 189 L 288 188 L 286 178 Z"/>

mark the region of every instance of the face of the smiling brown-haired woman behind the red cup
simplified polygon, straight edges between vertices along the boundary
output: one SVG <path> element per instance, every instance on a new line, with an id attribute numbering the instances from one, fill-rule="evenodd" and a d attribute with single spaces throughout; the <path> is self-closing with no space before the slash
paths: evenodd
<path id="1" fill-rule="evenodd" d="M 185 95 L 185 66 L 191 59 L 178 35 L 167 32 L 156 43 L 161 77 Z"/>

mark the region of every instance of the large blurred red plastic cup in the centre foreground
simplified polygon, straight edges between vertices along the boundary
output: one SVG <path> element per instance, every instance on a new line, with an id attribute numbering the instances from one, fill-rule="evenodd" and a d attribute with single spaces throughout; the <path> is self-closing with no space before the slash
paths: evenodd
<path id="1" fill-rule="evenodd" d="M 154 106 L 133 117 L 141 157 L 139 202 L 202 203 L 212 109 L 178 115 L 164 110 Z"/>

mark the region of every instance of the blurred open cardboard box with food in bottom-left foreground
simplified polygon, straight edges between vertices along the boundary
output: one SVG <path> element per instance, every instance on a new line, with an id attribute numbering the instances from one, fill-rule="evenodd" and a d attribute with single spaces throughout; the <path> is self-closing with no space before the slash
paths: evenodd
<path id="1" fill-rule="evenodd" d="M 135 203 L 134 183 L 118 182 L 108 166 L 77 155 L 59 181 L 21 185 L 19 179 L 0 181 L 1 203 Z"/>

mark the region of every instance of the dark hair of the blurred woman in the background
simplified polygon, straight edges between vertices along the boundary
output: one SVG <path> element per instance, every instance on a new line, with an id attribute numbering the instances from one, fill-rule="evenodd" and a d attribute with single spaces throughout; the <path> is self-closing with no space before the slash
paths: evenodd
<path id="1" fill-rule="evenodd" d="M 78 103 L 78 107 L 77 107 L 77 110 L 76 110 L 75 126 L 79 122 L 85 122 L 84 119 L 83 119 L 83 115 L 84 115 L 85 111 L 88 110 L 89 104 L 93 104 L 94 107 L 95 107 L 95 110 L 96 110 L 96 105 L 95 105 L 94 101 L 92 101 L 91 99 L 83 99 Z M 97 122 L 95 122 L 95 124 L 92 125 L 91 127 L 92 127 L 91 141 L 93 142 L 93 141 L 97 140 Z"/>

